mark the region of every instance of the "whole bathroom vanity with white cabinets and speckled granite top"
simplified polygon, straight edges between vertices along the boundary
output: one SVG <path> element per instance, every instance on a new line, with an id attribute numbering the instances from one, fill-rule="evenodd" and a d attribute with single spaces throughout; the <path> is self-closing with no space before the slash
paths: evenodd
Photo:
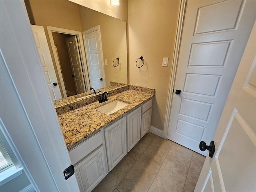
<path id="1" fill-rule="evenodd" d="M 75 176 L 83 192 L 93 190 L 150 129 L 154 89 L 126 85 L 119 91 L 108 92 L 110 96 L 106 102 L 96 101 L 62 113 L 64 106 L 57 111 Z M 88 98 L 84 98 L 84 102 L 88 102 L 86 100 Z M 100 111 L 100 107 L 116 100 L 127 105 L 111 114 Z"/>

